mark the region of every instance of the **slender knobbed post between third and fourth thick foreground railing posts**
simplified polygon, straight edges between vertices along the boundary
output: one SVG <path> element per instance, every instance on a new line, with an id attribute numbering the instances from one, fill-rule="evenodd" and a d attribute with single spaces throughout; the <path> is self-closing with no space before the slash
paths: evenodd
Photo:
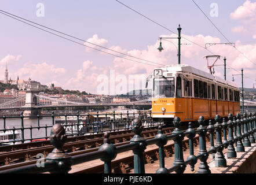
<path id="1" fill-rule="evenodd" d="M 186 160 L 191 160 L 190 166 L 191 166 L 191 171 L 193 172 L 195 170 L 195 164 L 198 161 L 198 158 L 194 155 L 194 145 L 193 145 L 193 138 L 196 135 L 195 129 L 191 128 L 191 122 L 188 123 L 188 129 L 186 129 L 186 134 L 188 134 L 189 138 L 189 156 L 186 158 Z"/>

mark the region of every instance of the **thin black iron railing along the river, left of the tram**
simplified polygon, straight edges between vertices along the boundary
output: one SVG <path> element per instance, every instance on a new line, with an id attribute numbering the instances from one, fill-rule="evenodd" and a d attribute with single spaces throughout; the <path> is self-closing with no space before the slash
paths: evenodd
<path id="1" fill-rule="evenodd" d="M 61 123 L 64 126 L 67 136 L 131 129 L 131 122 L 135 117 L 140 117 L 144 125 L 148 127 L 159 124 L 153 123 L 150 111 L 83 114 L 76 112 L 76 114 L 64 115 L 52 112 L 50 115 L 37 116 L 23 116 L 23 112 L 21 112 L 20 116 L 1 116 L 0 133 L 2 135 L 0 134 L 0 137 L 2 138 L 0 138 L 0 146 L 8 143 L 17 144 L 38 139 L 49 139 L 50 128 L 56 123 Z"/>

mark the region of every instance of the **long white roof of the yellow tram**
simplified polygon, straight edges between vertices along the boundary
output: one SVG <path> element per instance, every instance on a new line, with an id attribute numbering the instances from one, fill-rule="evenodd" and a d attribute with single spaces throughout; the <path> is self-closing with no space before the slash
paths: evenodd
<path id="1" fill-rule="evenodd" d="M 163 71 L 166 71 L 166 72 L 177 72 L 177 71 L 188 72 L 188 73 L 192 73 L 193 75 L 198 75 L 198 76 L 201 76 L 201 77 L 205 77 L 207 79 L 215 80 L 216 82 L 223 83 L 223 84 L 226 84 L 228 86 L 239 88 L 233 82 L 229 82 L 228 80 L 224 80 L 221 77 L 211 75 L 210 73 L 204 72 L 200 69 L 196 69 L 196 68 L 194 68 L 190 65 L 187 65 L 187 64 L 166 65 L 165 67 L 160 68 L 160 69 L 162 69 Z"/>

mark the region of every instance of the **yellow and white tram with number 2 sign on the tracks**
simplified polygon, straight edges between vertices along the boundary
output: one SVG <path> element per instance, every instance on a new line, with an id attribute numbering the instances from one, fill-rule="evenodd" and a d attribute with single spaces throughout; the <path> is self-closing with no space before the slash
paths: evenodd
<path id="1" fill-rule="evenodd" d="M 227 117 L 240 111 L 239 87 L 218 76 L 189 65 L 167 65 L 156 68 L 152 79 L 153 120 L 172 123 L 196 121 L 199 116 L 213 119 L 216 114 Z"/>

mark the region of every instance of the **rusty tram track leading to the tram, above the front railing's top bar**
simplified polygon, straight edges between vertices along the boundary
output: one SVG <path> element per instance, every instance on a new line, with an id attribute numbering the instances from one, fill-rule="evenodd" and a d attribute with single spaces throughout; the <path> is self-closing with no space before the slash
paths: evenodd
<path id="1" fill-rule="evenodd" d="M 166 135 L 171 134 L 173 127 L 163 128 L 163 133 Z M 186 129 L 186 126 L 182 126 L 181 129 Z M 141 134 L 146 139 L 154 138 L 157 134 L 158 129 L 148 127 L 144 128 L 144 131 Z M 130 142 L 130 139 L 134 136 L 134 133 L 131 129 L 126 131 L 110 132 L 111 136 L 109 139 L 111 143 L 116 146 L 125 145 Z M 71 156 L 78 155 L 81 153 L 89 153 L 90 151 L 98 150 L 98 147 L 103 144 L 103 135 L 104 134 L 94 134 L 94 135 L 83 135 L 72 138 L 67 138 L 67 141 L 63 145 L 63 149 L 70 153 Z M 17 164 L 20 162 L 27 162 L 36 159 L 36 155 L 43 154 L 44 157 L 47 156 L 54 147 L 50 145 L 50 141 L 42 141 L 35 143 L 23 143 L 20 144 L 19 150 L 15 149 L 17 147 L 13 146 L 3 146 L 1 147 L 0 153 L 0 164 L 1 166 L 8 166 L 12 164 Z M 9 151 L 4 151 L 9 150 Z M 0 169 L 1 170 L 1 169 Z"/>

